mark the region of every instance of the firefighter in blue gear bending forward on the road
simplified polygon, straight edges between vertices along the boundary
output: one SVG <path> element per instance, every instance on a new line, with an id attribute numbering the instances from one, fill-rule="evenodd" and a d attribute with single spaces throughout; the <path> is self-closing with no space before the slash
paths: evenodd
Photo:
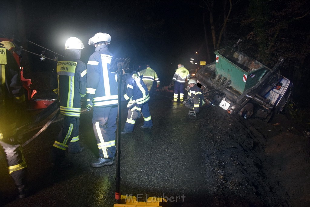
<path id="1" fill-rule="evenodd" d="M 144 124 L 140 126 L 140 128 L 151 129 L 153 127 L 153 122 L 148 108 L 148 100 L 150 99 L 148 88 L 137 73 L 126 77 L 126 93 L 122 99 L 123 101 L 129 100 L 127 104 L 128 115 L 121 134 L 132 133 L 135 121 L 141 117 L 141 114 L 143 115 Z"/>

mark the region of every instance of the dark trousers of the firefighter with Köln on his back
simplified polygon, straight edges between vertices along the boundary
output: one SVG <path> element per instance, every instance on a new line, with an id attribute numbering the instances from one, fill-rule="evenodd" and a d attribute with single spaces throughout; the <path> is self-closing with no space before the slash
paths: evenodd
<path id="1" fill-rule="evenodd" d="M 80 119 L 70 116 L 64 116 L 64 124 L 62 125 L 62 128 L 60 130 L 60 133 L 57 136 L 57 139 L 55 140 L 52 151 L 51 151 L 51 162 L 52 163 L 61 163 L 64 161 L 66 149 L 68 148 L 68 145 L 73 145 L 74 147 L 79 147 L 78 144 L 78 128 L 80 125 Z M 75 141 L 75 142 L 71 142 Z M 70 150 L 71 148 L 70 146 Z"/>

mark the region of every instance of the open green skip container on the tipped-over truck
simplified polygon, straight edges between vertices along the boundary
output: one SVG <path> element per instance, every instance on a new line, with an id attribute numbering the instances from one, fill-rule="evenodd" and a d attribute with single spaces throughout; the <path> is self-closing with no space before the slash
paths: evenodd
<path id="1" fill-rule="evenodd" d="M 257 84 L 270 70 L 234 47 L 225 47 L 214 53 L 215 73 L 230 79 L 230 86 L 240 94 Z"/>

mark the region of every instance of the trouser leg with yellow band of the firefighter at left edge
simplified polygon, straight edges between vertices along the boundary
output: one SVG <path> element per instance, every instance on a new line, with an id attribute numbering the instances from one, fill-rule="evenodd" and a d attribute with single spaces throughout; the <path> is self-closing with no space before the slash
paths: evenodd
<path id="1" fill-rule="evenodd" d="M 13 125 L 14 129 L 12 128 Z M 4 129 L 6 129 L 6 131 Z M 15 133 L 12 135 L 12 132 Z M 8 134 L 10 134 L 10 136 L 7 136 Z M 21 145 L 18 141 L 15 123 L 8 124 L 7 126 L 0 126 L 0 145 L 0 150 L 7 160 L 9 174 L 12 176 L 16 185 L 23 184 L 27 174 L 27 164 L 23 156 Z"/>

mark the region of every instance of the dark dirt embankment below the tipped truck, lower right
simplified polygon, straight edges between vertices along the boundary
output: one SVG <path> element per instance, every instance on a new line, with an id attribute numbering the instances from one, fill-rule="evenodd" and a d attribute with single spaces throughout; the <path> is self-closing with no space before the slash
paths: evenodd
<path id="1" fill-rule="evenodd" d="M 310 139 L 298 127 L 283 115 L 265 123 L 202 113 L 212 205 L 310 206 Z"/>

